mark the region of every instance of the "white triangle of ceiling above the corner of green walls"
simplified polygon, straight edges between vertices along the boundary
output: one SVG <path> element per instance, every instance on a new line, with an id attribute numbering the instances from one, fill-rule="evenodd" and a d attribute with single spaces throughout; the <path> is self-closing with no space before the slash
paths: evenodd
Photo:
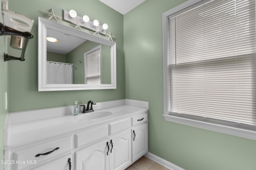
<path id="1" fill-rule="evenodd" d="M 121 14 L 126 14 L 145 0 L 100 0 Z"/>

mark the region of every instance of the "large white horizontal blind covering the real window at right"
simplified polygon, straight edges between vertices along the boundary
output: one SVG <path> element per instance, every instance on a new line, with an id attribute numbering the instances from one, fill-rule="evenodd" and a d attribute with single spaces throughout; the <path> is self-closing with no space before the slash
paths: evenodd
<path id="1" fill-rule="evenodd" d="M 255 0 L 170 16 L 170 115 L 256 127 L 255 36 Z"/>

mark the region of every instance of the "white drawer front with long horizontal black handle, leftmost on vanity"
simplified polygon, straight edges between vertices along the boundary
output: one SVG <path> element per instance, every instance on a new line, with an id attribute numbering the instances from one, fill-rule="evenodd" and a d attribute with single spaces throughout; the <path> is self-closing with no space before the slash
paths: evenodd
<path id="1" fill-rule="evenodd" d="M 16 151 L 14 152 L 15 161 L 25 162 L 25 163 L 15 164 L 14 169 L 21 170 L 21 169 L 27 168 L 32 165 L 29 162 L 34 162 L 34 161 L 36 162 L 36 164 L 40 164 L 44 160 L 54 158 L 55 156 L 60 155 L 64 152 L 67 152 L 71 149 L 72 149 L 72 136 L 69 136 L 69 137 L 60 138 L 54 141 L 42 143 L 34 147 L 29 147 L 27 149 Z M 38 154 L 40 155 L 36 156 Z"/>

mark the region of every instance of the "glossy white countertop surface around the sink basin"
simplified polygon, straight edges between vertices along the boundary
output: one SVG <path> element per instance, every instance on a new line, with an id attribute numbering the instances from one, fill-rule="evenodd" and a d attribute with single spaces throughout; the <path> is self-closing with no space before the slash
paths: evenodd
<path id="1" fill-rule="evenodd" d="M 112 121 L 122 117 L 129 117 L 136 113 L 144 113 L 148 108 L 137 106 L 122 105 L 96 111 L 110 111 L 111 115 L 97 119 L 88 119 L 86 116 L 81 116 L 87 113 L 79 113 L 78 115 L 63 115 L 48 119 L 28 121 L 24 123 L 9 124 L 5 129 L 4 147 L 15 147 L 26 143 L 32 143 L 40 139 L 55 137 L 72 133 L 79 129 L 85 129 L 100 123 Z M 91 112 L 92 113 L 92 112 Z M 82 118 L 83 117 L 83 118 Z M 6 139 L 7 138 L 7 139 Z"/>

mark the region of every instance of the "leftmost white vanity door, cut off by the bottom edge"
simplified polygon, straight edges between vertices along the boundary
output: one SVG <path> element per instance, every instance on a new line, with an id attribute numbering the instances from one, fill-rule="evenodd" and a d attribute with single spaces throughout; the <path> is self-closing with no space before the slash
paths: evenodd
<path id="1" fill-rule="evenodd" d="M 33 170 L 74 170 L 74 162 L 72 161 L 72 154 L 34 168 Z M 70 160 L 70 161 L 69 161 Z M 69 165 L 69 162 L 71 163 Z"/>

